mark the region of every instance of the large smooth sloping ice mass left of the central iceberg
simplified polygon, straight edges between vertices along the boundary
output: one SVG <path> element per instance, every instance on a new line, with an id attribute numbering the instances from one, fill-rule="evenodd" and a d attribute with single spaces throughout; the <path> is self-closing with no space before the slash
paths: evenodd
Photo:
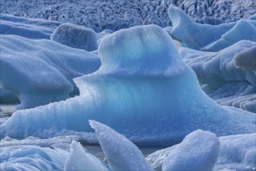
<path id="1" fill-rule="evenodd" d="M 100 67 L 96 55 L 51 40 L 1 35 L 0 50 L 0 83 L 3 89 L 18 93 L 19 109 L 78 95 L 72 79 Z"/>

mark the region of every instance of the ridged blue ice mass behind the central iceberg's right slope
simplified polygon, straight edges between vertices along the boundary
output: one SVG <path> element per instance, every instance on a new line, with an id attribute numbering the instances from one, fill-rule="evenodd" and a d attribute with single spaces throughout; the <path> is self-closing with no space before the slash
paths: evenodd
<path id="1" fill-rule="evenodd" d="M 181 58 L 195 71 L 203 89 L 217 103 L 256 112 L 255 42 L 241 40 L 219 52 L 182 47 Z M 247 60 L 242 60 L 245 57 Z M 238 67 L 238 66 L 244 66 Z M 252 65 L 252 66 L 251 66 Z M 250 66 L 250 67 L 249 67 Z"/>

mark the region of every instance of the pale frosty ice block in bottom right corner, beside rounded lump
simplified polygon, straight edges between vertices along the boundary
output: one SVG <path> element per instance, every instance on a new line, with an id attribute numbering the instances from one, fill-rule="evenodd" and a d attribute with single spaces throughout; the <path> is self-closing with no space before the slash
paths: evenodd
<path id="1" fill-rule="evenodd" d="M 214 170 L 254 170 L 256 168 L 256 134 L 220 137 L 219 158 Z"/>

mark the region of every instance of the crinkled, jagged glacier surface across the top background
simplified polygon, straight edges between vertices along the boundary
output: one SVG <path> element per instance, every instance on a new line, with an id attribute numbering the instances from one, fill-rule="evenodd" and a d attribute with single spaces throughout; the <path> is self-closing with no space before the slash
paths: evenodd
<path id="1" fill-rule="evenodd" d="M 96 31 L 120 30 L 137 25 L 170 26 L 167 9 L 170 4 L 183 9 L 197 23 L 217 25 L 247 19 L 256 12 L 254 0 L 44 0 L 0 2 L 0 12 L 14 16 L 75 23 Z M 28 10 L 29 9 L 29 10 Z"/>

